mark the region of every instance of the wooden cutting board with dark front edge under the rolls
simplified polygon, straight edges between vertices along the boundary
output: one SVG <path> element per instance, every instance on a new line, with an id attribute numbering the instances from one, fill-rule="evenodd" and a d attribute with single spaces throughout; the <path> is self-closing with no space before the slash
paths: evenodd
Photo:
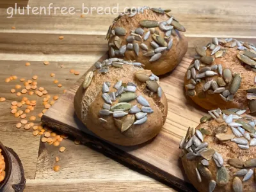
<path id="1" fill-rule="evenodd" d="M 105 54 L 99 61 L 106 60 Z M 184 74 L 192 58 L 186 55 L 175 70 L 161 77 L 161 87 L 168 100 L 168 116 L 162 131 L 151 141 L 136 147 L 122 147 L 103 141 L 81 124 L 74 112 L 74 95 L 83 82 L 81 77 L 65 95 L 42 116 L 42 121 L 57 131 L 64 132 L 82 143 L 97 148 L 137 168 L 142 168 L 161 180 L 184 191 L 194 191 L 179 162 L 179 141 L 189 126 L 196 127 L 204 115 L 192 100 L 184 95 Z M 82 166 L 82 165 L 81 165 Z"/>

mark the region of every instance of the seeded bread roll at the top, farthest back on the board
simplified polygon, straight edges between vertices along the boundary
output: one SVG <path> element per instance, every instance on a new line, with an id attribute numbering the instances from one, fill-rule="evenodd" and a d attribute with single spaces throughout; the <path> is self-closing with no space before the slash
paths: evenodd
<path id="1" fill-rule="evenodd" d="M 109 56 L 143 63 L 157 76 L 172 71 L 188 49 L 186 29 L 170 10 L 143 7 L 121 13 L 109 26 Z"/>

